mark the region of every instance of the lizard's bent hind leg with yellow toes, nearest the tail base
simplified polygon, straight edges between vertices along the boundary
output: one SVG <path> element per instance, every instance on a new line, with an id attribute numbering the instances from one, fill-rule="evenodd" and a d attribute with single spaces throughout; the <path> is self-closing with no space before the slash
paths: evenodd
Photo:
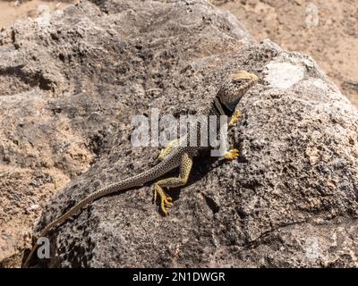
<path id="1" fill-rule="evenodd" d="M 154 201 L 157 200 L 157 195 L 160 197 L 160 208 L 163 214 L 167 214 L 166 207 L 173 206 L 173 199 L 170 198 L 163 188 L 175 188 L 186 184 L 189 174 L 192 170 L 192 157 L 184 153 L 181 158 L 179 167 L 179 177 L 167 178 L 157 181 L 154 184 Z"/>

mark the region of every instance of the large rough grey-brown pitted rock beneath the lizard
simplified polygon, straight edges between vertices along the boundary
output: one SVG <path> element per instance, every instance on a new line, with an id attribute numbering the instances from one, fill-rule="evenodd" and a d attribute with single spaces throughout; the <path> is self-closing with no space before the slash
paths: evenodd
<path id="1" fill-rule="evenodd" d="M 72 179 L 37 231 L 155 164 L 158 147 L 131 145 L 133 115 L 194 114 L 230 72 L 260 78 L 229 133 L 238 160 L 196 160 L 167 217 L 150 185 L 99 199 L 52 231 L 51 258 L 33 265 L 358 265 L 358 114 L 310 57 L 255 43 L 205 1 L 82 1 L 5 29 L 0 45 L 0 165 L 14 168 L 1 206 L 21 174 L 38 178 L 19 188 L 24 206 L 54 176 Z"/>

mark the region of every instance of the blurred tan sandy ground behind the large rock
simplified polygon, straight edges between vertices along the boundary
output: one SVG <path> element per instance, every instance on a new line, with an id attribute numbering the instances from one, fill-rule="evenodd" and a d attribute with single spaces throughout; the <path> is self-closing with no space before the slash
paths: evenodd
<path id="1" fill-rule="evenodd" d="M 0 29 L 63 10 L 77 0 L 0 0 Z M 233 13 L 251 36 L 311 55 L 358 106 L 358 0 L 210 0 Z"/>

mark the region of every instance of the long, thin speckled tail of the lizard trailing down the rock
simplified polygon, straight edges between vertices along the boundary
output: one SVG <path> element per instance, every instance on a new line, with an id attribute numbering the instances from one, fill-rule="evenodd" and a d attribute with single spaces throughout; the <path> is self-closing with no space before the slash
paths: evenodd
<path id="1" fill-rule="evenodd" d="M 166 161 L 162 161 L 159 164 L 155 165 L 154 167 L 150 168 L 148 171 L 141 172 L 138 175 L 124 179 L 123 181 L 115 182 L 103 189 L 98 189 L 97 191 L 91 193 L 88 197 L 83 198 L 78 204 L 72 206 L 72 208 L 70 208 L 67 212 L 62 214 L 60 217 L 56 218 L 52 223 L 47 224 L 45 229 L 40 232 L 39 238 L 45 237 L 48 231 L 52 230 L 56 225 L 64 223 L 64 221 L 66 221 L 69 217 L 81 211 L 81 209 L 84 206 L 89 205 L 94 200 L 107 196 L 119 190 L 130 189 L 133 187 L 140 187 L 144 185 L 146 182 L 153 181 L 158 177 L 164 175 L 166 172 L 168 172 L 168 169 L 164 167 L 165 165 L 166 165 Z M 37 248 L 38 248 L 38 244 L 35 242 L 34 246 L 30 251 L 29 256 L 26 258 L 26 261 L 22 265 L 23 267 L 27 268 L 29 266 L 31 257 L 33 256 Z"/>

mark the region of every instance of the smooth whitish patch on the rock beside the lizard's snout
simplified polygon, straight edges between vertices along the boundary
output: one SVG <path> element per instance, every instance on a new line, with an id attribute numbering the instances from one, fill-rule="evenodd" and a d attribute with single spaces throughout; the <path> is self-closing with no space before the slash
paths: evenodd
<path id="1" fill-rule="evenodd" d="M 303 66 L 292 63 L 268 63 L 266 69 L 265 80 L 273 88 L 290 88 L 304 76 Z"/>

